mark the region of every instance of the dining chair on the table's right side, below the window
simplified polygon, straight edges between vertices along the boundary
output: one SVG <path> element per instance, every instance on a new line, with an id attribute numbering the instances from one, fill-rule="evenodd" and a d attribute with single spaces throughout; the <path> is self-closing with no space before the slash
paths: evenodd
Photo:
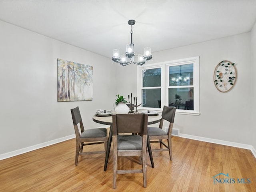
<path id="1" fill-rule="evenodd" d="M 160 121 L 159 127 L 148 127 L 148 137 L 150 143 L 160 143 L 160 149 L 151 148 L 151 151 L 169 151 L 170 160 L 172 160 L 172 127 L 174 123 L 175 111 L 175 107 L 164 106 L 162 111 L 162 119 Z M 169 122 L 167 133 L 163 130 L 164 120 Z M 167 145 L 162 141 L 163 139 L 167 140 Z M 163 145 L 166 148 L 163 148 Z"/>

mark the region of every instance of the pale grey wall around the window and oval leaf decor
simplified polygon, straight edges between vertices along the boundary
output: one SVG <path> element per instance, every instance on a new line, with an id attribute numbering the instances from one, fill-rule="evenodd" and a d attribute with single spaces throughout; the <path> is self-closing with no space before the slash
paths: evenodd
<path id="1" fill-rule="evenodd" d="M 250 33 L 153 52 L 152 56 L 150 63 L 200 56 L 201 114 L 176 114 L 174 128 L 179 128 L 182 134 L 252 144 Z M 234 88 L 226 93 L 219 92 L 213 82 L 214 69 L 222 60 L 236 63 L 238 73 Z M 121 69 L 118 72 L 124 73 Z M 127 78 L 124 84 L 136 84 L 135 76 L 133 82 Z"/>

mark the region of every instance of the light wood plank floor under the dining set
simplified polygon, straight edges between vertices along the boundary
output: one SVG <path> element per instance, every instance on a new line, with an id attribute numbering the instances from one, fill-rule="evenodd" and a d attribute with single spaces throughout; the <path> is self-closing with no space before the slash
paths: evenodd
<path id="1" fill-rule="evenodd" d="M 172 138 L 173 160 L 168 152 L 153 152 L 155 167 L 147 157 L 147 187 L 142 174 L 118 174 L 112 189 L 112 152 L 104 172 L 104 154 L 79 156 L 75 166 L 75 139 L 0 161 L 1 192 L 256 192 L 256 159 L 250 150 Z M 152 148 L 157 146 L 152 144 Z M 86 146 L 88 147 L 88 146 Z M 86 148 L 84 148 L 86 149 Z M 102 145 L 88 150 L 104 149 Z M 138 158 L 121 157 L 119 166 L 136 168 Z M 236 183 L 214 184 L 224 173 Z M 217 176 L 224 181 L 223 175 Z M 237 183 L 237 178 L 250 183 Z"/>

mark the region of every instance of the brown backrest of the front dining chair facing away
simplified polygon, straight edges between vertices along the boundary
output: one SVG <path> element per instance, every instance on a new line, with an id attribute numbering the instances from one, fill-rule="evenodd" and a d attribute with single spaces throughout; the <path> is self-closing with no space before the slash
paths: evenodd
<path id="1" fill-rule="evenodd" d="M 113 114 L 113 135 L 148 132 L 148 114 Z"/>

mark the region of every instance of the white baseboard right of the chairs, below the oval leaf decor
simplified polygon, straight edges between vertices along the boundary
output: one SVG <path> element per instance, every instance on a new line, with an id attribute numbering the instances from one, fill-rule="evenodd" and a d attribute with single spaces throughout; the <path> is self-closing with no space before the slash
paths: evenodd
<path id="1" fill-rule="evenodd" d="M 209 143 L 216 143 L 216 144 L 226 145 L 226 146 L 231 146 L 231 147 L 238 147 L 238 148 L 242 148 L 242 149 L 249 149 L 249 150 L 251 150 L 252 154 L 256 158 L 256 150 L 253 148 L 252 145 L 223 141 L 223 140 L 218 140 L 218 139 L 205 138 L 205 137 L 198 137 L 198 136 L 187 135 L 187 134 L 182 134 L 182 133 L 180 133 L 180 137 L 198 140 L 198 141 L 209 142 Z"/>

